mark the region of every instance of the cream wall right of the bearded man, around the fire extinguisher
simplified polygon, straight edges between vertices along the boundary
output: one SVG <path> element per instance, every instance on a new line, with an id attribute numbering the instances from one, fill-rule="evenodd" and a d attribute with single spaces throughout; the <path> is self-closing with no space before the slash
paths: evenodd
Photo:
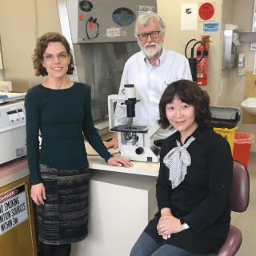
<path id="1" fill-rule="evenodd" d="M 200 0 L 166 1 L 158 0 L 158 14 L 166 22 L 167 30 L 164 46 L 184 54 L 186 42 L 191 38 L 201 38 L 202 22 L 198 22 L 198 30 L 180 30 L 181 4 L 205 2 Z M 237 69 L 222 70 L 222 41 L 226 22 L 237 23 L 242 31 L 250 32 L 252 29 L 254 0 L 218 0 L 216 1 L 216 16 L 214 22 L 220 22 L 220 32 L 211 33 L 209 50 L 209 80 L 208 85 L 202 88 L 210 94 L 211 105 L 235 106 L 241 109 L 244 100 L 246 75 L 238 76 Z M 244 43 L 238 46 L 238 54 L 246 52 L 246 70 L 251 71 L 254 67 L 255 52 L 250 51 L 250 44 Z M 220 73 L 223 72 L 223 92 L 218 96 L 218 85 Z M 244 124 L 241 121 L 238 131 L 254 134 L 256 136 L 256 125 Z M 252 144 L 251 151 L 256 152 L 256 143 Z"/>

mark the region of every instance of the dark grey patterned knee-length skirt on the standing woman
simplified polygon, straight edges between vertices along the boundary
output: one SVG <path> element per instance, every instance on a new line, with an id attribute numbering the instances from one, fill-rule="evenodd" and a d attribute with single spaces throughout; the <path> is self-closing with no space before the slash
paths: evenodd
<path id="1" fill-rule="evenodd" d="M 39 165 L 46 188 L 38 206 L 39 241 L 50 245 L 79 242 L 88 234 L 89 169 L 60 170 Z"/>

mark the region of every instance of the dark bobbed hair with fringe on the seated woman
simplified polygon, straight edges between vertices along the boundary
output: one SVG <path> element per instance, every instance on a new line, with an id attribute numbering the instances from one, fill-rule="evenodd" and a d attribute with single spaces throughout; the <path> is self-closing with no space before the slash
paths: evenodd
<path id="1" fill-rule="evenodd" d="M 206 90 L 202 90 L 196 82 L 179 80 L 169 84 L 160 99 L 160 119 L 158 123 L 162 129 L 166 129 L 170 126 L 170 122 L 166 118 L 166 104 L 173 102 L 175 95 L 178 95 L 178 98 L 180 98 L 182 102 L 194 106 L 195 122 L 198 126 L 210 126 L 211 113 L 209 110 L 209 94 Z"/>

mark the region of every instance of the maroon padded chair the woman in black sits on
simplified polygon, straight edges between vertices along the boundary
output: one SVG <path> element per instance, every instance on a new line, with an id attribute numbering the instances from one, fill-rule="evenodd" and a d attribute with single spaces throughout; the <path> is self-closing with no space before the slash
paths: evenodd
<path id="1" fill-rule="evenodd" d="M 242 213 L 249 204 L 250 179 L 246 166 L 234 160 L 233 184 L 230 192 L 231 210 Z M 242 243 L 242 232 L 237 227 L 230 225 L 226 242 L 223 244 L 218 256 L 233 256 Z M 215 256 L 210 254 L 209 256 Z"/>

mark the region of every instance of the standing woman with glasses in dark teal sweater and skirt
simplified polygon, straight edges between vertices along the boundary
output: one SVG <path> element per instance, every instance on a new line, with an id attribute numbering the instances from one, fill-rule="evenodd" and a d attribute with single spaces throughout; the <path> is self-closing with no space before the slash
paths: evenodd
<path id="1" fill-rule="evenodd" d="M 94 128 L 89 87 L 66 79 L 74 70 L 66 38 L 44 34 L 38 39 L 33 63 L 36 75 L 48 78 L 26 94 L 31 197 L 38 205 L 42 253 L 68 256 L 71 243 L 88 234 L 89 170 L 84 137 L 110 165 L 132 164 L 106 150 Z"/>

